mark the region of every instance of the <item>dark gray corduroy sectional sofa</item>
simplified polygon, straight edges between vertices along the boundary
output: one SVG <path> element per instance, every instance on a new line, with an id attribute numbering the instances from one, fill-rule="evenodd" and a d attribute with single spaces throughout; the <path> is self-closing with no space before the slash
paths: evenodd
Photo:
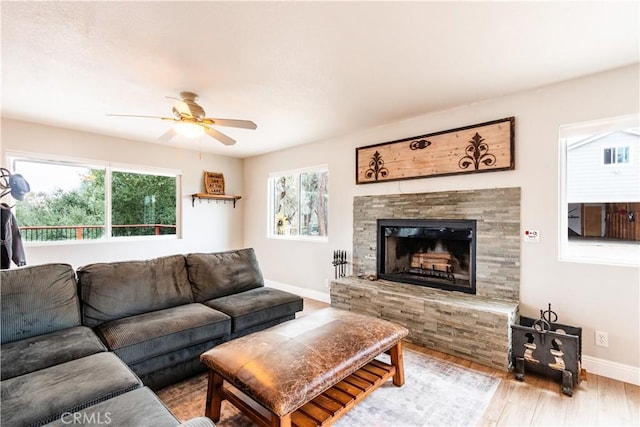
<path id="1" fill-rule="evenodd" d="M 21 267 L 0 280 L 3 426 L 176 426 L 152 390 L 204 371 L 208 348 L 302 310 L 264 287 L 252 249 Z"/>

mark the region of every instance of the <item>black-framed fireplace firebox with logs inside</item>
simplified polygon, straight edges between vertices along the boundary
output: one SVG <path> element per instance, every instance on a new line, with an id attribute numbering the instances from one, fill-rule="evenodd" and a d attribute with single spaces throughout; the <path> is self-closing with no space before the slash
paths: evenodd
<path id="1" fill-rule="evenodd" d="M 378 219 L 378 277 L 476 293 L 476 221 Z"/>

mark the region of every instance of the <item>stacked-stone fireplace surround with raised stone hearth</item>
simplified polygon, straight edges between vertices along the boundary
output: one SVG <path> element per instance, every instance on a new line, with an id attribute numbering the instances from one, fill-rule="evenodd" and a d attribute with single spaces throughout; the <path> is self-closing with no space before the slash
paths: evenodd
<path id="1" fill-rule="evenodd" d="M 392 258 L 397 259 L 382 260 L 379 220 L 403 225 L 412 220 L 424 227 L 400 232 L 390 225 L 387 237 L 392 239 L 387 245 L 395 245 Z M 435 220 L 470 227 L 475 247 L 465 240 L 468 232 L 466 237 L 464 231 L 458 232 L 456 237 L 464 243 L 459 241 L 452 251 L 447 250 L 453 252 L 450 257 L 442 254 L 444 245 L 438 246 L 431 237 L 436 233 L 432 230 Z M 409 329 L 408 340 L 416 344 L 509 368 L 511 325 L 518 316 L 520 290 L 520 188 L 359 196 L 353 202 L 353 227 L 354 275 L 331 283 L 332 305 L 402 324 Z M 417 238 L 422 241 L 398 242 L 411 239 L 412 233 L 421 234 Z M 468 260 L 460 246 L 468 248 Z M 405 252 L 415 257 L 407 258 Z M 425 273 L 429 268 L 432 271 Z M 439 283 L 416 286 L 395 280 L 393 272 L 401 269 L 424 273 L 426 281 Z M 453 274 L 457 288 L 443 288 L 448 273 Z"/>

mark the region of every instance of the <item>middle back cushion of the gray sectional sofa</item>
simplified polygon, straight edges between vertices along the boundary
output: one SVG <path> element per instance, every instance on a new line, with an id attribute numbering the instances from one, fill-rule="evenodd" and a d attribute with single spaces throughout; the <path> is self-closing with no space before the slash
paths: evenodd
<path id="1" fill-rule="evenodd" d="M 82 323 L 91 328 L 193 302 L 183 255 L 89 264 L 77 274 Z"/>

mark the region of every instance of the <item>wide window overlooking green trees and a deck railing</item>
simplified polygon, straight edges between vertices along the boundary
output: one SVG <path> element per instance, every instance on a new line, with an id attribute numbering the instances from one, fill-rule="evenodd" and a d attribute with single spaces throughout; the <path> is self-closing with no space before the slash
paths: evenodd
<path id="1" fill-rule="evenodd" d="M 178 235 L 179 172 L 8 157 L 31 187 L 15 208 L 25 242 Z"/>

